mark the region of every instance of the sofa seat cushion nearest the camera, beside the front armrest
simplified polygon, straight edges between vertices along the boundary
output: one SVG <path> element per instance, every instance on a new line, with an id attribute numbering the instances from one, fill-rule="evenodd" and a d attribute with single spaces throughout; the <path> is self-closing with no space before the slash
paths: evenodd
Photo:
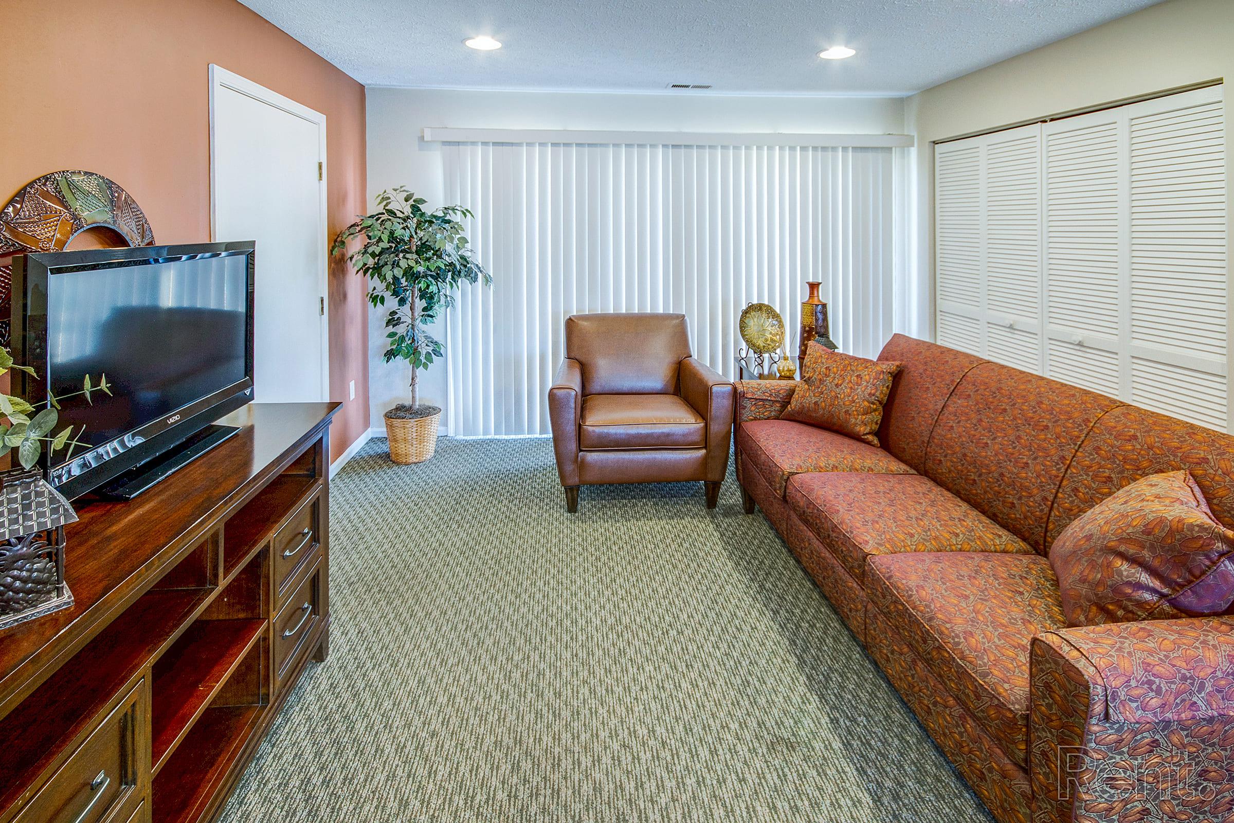
<path id="1" fill-rule="evenodd" d="M 865 589 L 871 607 L 1027 767 L 1029 644 L 1066 626 L 1050 561 L 1039 554 L 888 554 L 870 558 Z"/>

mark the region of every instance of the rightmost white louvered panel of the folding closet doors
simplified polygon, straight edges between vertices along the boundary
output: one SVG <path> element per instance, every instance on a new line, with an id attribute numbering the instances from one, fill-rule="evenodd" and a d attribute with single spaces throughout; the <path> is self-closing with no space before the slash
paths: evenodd
<path id="1" fill-rule="evenodd" d="M 1220 95 L 1206 97 L 1154 100 L 1128 118 L 1124 371 L 1133 402 L 1227 428 L 1225 126 Z"/>

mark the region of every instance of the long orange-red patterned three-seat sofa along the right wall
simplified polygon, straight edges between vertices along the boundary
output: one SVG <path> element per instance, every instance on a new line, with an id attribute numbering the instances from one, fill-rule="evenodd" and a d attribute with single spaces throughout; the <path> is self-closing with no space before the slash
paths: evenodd
<path id="1" fill-rule="evenodd" d="M 1234 618 L 1067 628 L 1045 556 L 1188 469 L 1234 524 L 1234 437 L 903 336 L 875 448 L 742 381 L 737 475 L 1002 823 L 1234 819 Z"/>

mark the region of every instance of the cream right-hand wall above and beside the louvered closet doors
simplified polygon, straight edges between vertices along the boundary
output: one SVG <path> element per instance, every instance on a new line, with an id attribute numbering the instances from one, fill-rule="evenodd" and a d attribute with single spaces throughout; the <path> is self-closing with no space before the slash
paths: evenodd
<path id="1" fill-rule="evenodd" d="M 928 284 L 934 281 L 930 142 L 1230 78 L 1232 43 L 1234 0 L 1170 0 L 909 97 L 906 128 L 918 146 L 918 268 Z M 1225 155 L 1234 158 L 1228 118 L 1225 139 Z M 1234 213 L 1234 186 L 1228 194 L 1227 213 Z M 927 285 L 932 302 L 933 294 Z M 929 316 L 933 328 L 933 308 Z"/>

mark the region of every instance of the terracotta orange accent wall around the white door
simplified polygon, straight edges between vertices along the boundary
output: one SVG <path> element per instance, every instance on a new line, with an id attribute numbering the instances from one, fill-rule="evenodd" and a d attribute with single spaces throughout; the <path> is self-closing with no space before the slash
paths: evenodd
<path id="1" fill-rule="evenodd" d="M 210 239 L 216 63 L 326 115 L 328 234 L 365 211 L 364 86 L 236 0 L 7 0 L 0 49 L 0 205 L 59 169 L 104 174 L 159 243 Z M 355 400 L 348 400 L 348 381 Z M 364 281 L 329 270 L 337 457 L 369 428 Z"/>

